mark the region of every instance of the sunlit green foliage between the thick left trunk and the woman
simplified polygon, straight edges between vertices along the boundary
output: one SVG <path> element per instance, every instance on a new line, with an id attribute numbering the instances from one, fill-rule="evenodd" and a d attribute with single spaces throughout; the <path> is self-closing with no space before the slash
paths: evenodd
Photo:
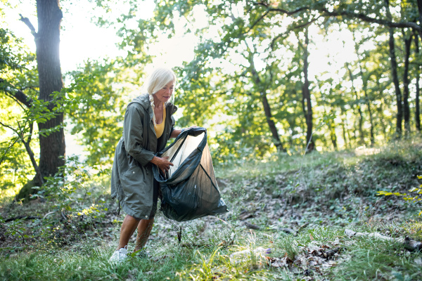
<path id="1" fill-rule="evenodd" d="M 128 87 L 115 88 L 126 74 L 118 61 L 87 62 L 84 69 L 71 73 L 75 79 L 77 105 L 69 112 L 70 133 L 79 136 L 84 145 L 87 164 L 99 169 L 110 168 L 115 145 L 122 136 Z M 81 83 L 81 80 L 83 83 Z M 129 83 L 129 81 L 127 81 Z"/>

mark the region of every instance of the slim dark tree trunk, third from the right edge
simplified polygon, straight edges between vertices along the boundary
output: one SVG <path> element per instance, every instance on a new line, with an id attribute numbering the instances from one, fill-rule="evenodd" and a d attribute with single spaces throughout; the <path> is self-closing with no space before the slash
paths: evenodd
<path id="1" fill-rule="evenodd" d="M 392 20 L 390 13 L 390 1 L 385 0 L 385 9 L 389 20 Z M 394 43 L 394 28 L 390 27 L 390 39 L 388 45 L 390 46 L 390 62 L 391 62 L 391 77 L 394 83 L 396 102 L 397 102 L 397 122 L 396 122 L 396 138 L 402 137 L 402 119 L 403 119 L 403 107 L 402 107 L 402 91 L 400 91 L 399 78 L 397 75 L 397 59 L 395 55 L 395 43 Z"/>

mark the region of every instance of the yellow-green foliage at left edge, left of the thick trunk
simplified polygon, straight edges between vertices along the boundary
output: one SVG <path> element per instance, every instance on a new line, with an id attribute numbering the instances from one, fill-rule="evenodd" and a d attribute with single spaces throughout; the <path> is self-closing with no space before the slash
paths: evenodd
<path id="1" fill-rule="evenodd" d="M 28 175 L 34 174 L 22 138 L 26 140 L 32 135 L 30 125 L 43 117 L 16 103 L 11 93 L 11 89 L 27 88 L 30 98 L 36 94 L 38 82 L 34 53 L 10 30 L 1 28 L 0 34 L 0 119 L 2 124 L 10 127 L 0 126 L 0 190 L 4 195 L 12 195 L 27 183 Z"/>

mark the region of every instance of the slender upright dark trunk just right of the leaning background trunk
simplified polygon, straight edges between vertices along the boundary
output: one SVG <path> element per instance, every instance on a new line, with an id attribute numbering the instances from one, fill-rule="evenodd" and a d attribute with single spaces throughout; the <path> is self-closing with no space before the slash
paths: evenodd
<path id="1" fill-rule="evenodd" d="M 314 150 L 315 144 L 312 140 L 312 103 L 311 93 L 309 91 L 309 79 L 308 79 L 308 51 L 307 46 L 309 44 L 308 29 L 305 28 L 305 45 L 303 46 L 303 78 L 305 83 L 302 85 L 302 110 L 305 113 L 305 120 L 307 125 L 306 131 L 306 152 Z M 306 105 L 306 107 L 305 107 Z"/>

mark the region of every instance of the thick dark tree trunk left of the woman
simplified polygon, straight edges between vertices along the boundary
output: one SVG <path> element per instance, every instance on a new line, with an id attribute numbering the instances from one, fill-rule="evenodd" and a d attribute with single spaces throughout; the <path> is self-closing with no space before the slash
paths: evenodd
<path id="1" fill-rule="evenodd" d="M 51 102 L 52 93 L 63 88 L 60 70 L 60 22 L 63 13 L 58 0 L 37 0 L 38 32 L 35 38 L 37 46 L 37 67 L 39 75 L 39 99 Z M 52 110 L 55 104 L 49 104 Z M 39 123 L 40 131 L 63 125 L 63 112 L 45 123 Z M 39 135 L 41 175 L 53 176 L 59 166 L 65 164 L 65 135 L 63 126 L 48 136 Z"/>

